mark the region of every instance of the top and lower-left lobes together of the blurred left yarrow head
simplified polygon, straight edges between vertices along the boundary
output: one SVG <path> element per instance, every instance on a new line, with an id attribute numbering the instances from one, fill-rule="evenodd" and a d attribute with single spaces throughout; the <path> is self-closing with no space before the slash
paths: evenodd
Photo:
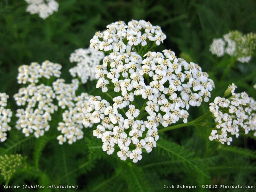
<path id="1" fill-rule="evenodd" d="M 42 65 L 34 62 L 19 67 L 18 83 L 28 83 L 28 86 L 20 88 L 14 95 L 17 105 L 24 106 L 16 112 L 16 128 L 22 129 L 25 136 L 34 134 L 38 138 L 49 130 L 52 114 L 58 108 L 53 104 L 56 94 L 51 86 L 39 82 L 42 78 L 59 77 L 60 70 L 60 64 L 50 61 L 45 61 Z"/>

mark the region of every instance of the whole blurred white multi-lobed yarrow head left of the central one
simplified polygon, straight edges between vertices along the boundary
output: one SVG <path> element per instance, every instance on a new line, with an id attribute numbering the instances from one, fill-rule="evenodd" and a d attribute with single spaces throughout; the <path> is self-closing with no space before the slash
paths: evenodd
<path id="1" fill-rule="evenodd" d="M 25 136 L 32 133 L 37 138 L 43 136 L 50 129 L 52 117 L 58 111 L 60 114 L 57 117 L 62 116 L 62 121 L 56 126 L 61 132 L 57 137 L 59 144 L 67 141 L 72 144 L 83 138 L 83 107 L 92 96 L 87 93 L 76 95 L 78 79 L 73 79 L 71 83 L 65 83 L 61 78 L 55 80 L 61 74 L 60 69 L 60 64 L 49 61 L 19 68 L 18 83 L 28 83 L 28 86 L 14 95 L 17 105 L 24 106 L 17 110 L 16 128 L 22 129 Z"/>

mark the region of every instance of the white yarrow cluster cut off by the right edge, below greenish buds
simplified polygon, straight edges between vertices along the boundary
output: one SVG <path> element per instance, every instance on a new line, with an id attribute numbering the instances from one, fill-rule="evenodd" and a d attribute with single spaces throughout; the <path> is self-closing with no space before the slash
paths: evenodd
<path id="1" fill-rule="evenodd" d="M 234 84 L 229 86 L 228 91 L 232 94 L 230 98 L 216 97 L 210 103 L 209 109 L 216 122 L 216 129 L 209 136 L 211 141 L 215 139 L 230 145 L 233 135 L 237 138 L 240 131 L 248 134 L 256 130 L 256 102 L 246 92 L 235 93 L 235 88 Z"/>

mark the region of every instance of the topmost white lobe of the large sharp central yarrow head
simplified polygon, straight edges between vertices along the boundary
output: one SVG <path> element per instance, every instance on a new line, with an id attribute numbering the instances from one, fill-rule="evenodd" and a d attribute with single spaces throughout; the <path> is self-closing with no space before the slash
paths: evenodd
<path id="1" fill-rule="evenodd" d="M 90 40 L 90 47 L 94 51 L 111 51 L 124 53 L 133 51 L 134 46 L 143 47 L 155 43 L 160 45 L 166 35 L 159 26 L 153 26 L 144 20 L 132 20 L 126 25 L 117 21 L 107 25 L 107 30 L 96 32 Z M 151 42 L 151 43 L 150 43 Z"/>

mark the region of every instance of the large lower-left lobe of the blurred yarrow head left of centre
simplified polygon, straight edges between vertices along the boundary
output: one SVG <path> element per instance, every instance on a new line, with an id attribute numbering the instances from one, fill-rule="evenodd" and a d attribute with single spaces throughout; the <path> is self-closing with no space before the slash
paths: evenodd
<path id="1" fill-rule="evenodd" d="M 26 106 L 25 109 L 18 109 L 16 117 L 16 128 L 22 129 L 25 136 L 34 134 L 36 138 L 43 136 L 50 128 L 49 122 L 52 114 L 57 111 L 57 106 L 53 104 L 55 93 L 50 86 L 34 83 L 25 88 L 20 88 L 14 95 L 18 106 Z"/>

